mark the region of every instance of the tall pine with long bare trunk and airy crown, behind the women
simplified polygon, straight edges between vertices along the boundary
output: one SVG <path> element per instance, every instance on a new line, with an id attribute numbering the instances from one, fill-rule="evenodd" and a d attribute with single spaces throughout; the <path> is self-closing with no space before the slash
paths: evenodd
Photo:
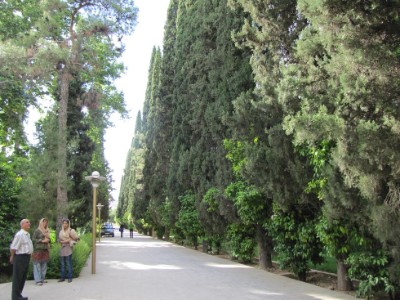
<path id="1" fill-rule="evenodd" d="M 61 223 L 68 202 L 67 116 L 68 103 L 72 100 L 69 98 L 71 81 L 79 74 L 81 82 L 85 83 L 85 104 L 100 107 L 101 95 L 109 93 L 108 87 L 103 87 L 121 72 L 121 66 L 115 63 L 120 48 L 108 37 L 129 34 L 135 26 L 136 10 L 131 1 L 118 0 L 52 0 L 41 2 L 40 8 L 43 16 L 24 36 L 23 42 L 34 62 L 31 72 L 47 74 L 59 89 L 57 207 L 58 223 Z M 108 109 L 121 109 L 116 98 L 110 100 Z M 107 104 L 102 103 L 102 107 L 106 109 Z"/>

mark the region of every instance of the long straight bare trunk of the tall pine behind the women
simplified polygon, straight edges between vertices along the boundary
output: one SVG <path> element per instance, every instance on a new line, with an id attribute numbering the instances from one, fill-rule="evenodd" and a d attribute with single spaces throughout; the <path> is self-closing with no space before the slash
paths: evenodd
<path id="1" fill-rule="evenodd" d="M 67 217 L 67 107 L 70 76 L 66 67 L 60 70 L 60 99 L 58 107 L 58 151 L 57 151 L 57 228 Z"/>

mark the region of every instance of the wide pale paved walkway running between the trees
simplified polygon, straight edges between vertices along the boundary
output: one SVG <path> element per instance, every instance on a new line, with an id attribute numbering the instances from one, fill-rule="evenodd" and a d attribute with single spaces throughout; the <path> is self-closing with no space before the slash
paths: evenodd
<path id="1" fill-rule="evenodd" d="M 117 234 L 118 233 L 118 234 Z M 350 300 L 323 289 L 137 233 L 102 238 L 96 274 L 91 258 L 72 283 L 25 285 L 29 300 Z M 0 284 L 9 300 L 11 284 Z"/>

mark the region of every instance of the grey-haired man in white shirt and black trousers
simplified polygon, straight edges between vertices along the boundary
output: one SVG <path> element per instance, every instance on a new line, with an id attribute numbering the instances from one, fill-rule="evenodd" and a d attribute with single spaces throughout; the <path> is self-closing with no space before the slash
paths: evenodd
<path id="1" fill-rule="evenodd" d="M 28 232 L 31 228 L 31 223 L 28 219 L 23 219 L 20 225 L 21 230 L 15 234 L 10 246 L 10 263 L 13 265 L 12 300 L 28 300 L 28 297 L 22 296 L 22 290 L 25 286 L 29 261 L 33 252 L 33 244 Z"/>

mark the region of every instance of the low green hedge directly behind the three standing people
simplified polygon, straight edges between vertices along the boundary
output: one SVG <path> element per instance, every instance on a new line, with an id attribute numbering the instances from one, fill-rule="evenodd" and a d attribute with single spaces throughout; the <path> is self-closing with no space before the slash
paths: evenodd
<path id="1" fill-rule="evenodd" d="M 80 237 L 80 241 L 74 246 L 72 253 L 72 277 L 79 277 L 92 250 L 92 235 L 87 233 Z M 56 279 L 60 277 L 60 249 L 59 243 L 53 243 L 50 249 L 50 260 L 47 264 L 46 278 Z M 28 279 L 33 279 L 32 263 L 29 266 Z"/>

